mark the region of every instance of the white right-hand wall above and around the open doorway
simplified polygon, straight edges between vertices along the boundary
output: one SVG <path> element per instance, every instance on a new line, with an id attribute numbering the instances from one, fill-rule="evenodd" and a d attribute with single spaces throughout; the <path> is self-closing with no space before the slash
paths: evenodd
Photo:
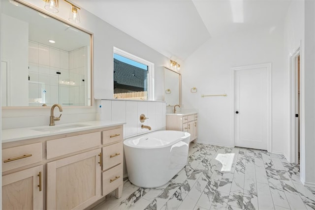
<path id="1" fill-rule="evenodd" d="M 303 184 L 315 186 L 315 2 L 292 1 L 284 25 L 285 92 L 289 95 L 290 75 L 288 59 L 300 47 L 300 179 Z M 285 103 L 290 103 L 286 101 Z M 290 110 L 286 110 L 290 116 Z M 289 120 L 286 127 L 289 128 Z M 289 135 L 287 138 L 289 139 Z M 285 145 L 285 155 L 290 157 L 290 145 Z M 292 157 L 290 158 L 292 161 Z"/>

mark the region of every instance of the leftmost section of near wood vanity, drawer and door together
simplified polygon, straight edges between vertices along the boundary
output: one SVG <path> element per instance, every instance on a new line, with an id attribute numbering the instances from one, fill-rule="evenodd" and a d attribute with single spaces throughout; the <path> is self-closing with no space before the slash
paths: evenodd
<path id="1" fill-rule="evenodd" d="M 2 209 L 43 209 L 42 143 L 27 144 L 2 149 Z M 38 163 L 39 166 L 19 170 L 20 167 Z M 19 171 L 17 171 L 19 170 Z"/>

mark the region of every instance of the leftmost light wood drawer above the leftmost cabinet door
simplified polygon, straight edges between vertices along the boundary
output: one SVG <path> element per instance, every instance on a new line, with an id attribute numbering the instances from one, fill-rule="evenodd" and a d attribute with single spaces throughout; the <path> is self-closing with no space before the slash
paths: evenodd
<path id="1" fill-rule="evenodd" d="M 30 165 L 32 163 L 41 162 L 42 159 L 43 155 L 41 142 L 3 149 L 2 171 L 4 172 Z"/>

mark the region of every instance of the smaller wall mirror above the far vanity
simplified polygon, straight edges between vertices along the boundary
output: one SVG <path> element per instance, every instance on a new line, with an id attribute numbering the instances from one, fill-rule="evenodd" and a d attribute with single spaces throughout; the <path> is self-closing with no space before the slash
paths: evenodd
<path id="1" fill-rule="evenodd" d="M 166 106 L 181 104 L 181 74 L 164 67 L 164 100 Z"/>

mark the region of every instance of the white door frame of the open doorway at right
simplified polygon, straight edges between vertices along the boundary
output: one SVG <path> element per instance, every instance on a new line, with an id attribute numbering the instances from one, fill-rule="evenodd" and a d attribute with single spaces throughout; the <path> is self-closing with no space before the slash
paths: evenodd
<path id="1" fill-rule="evenodd" d="M 296 110 L 296 99 L 297 95 L 296 89 L 296 58 L 301 55 L 301 47 L 298 47 L 293 54 L 289 55 L 289 67 L 290 67 L 290 152 L 289 152 L 289 162 L 297 163 L 298 157 L 298 145 L 296 139 L 296 120 L 295 120 L 295 110 Z M 300 61 L 300 90 L 301 90 L 301 61 Z M 301 96 L 301 93 L 300 93 Z M 301 98 L 300 98 L 300 128 L 301 128 Z M 300 131 L 301 132 L 301 131 Z M 300 145 L 301 145 L 301 133 L 300 133 Z"/>

